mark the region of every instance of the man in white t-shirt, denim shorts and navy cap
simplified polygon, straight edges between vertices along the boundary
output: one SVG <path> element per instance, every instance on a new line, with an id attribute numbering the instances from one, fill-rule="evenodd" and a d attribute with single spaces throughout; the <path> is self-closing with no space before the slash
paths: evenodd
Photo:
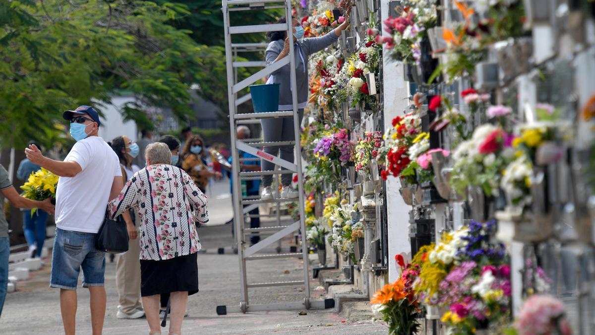
<path id="1" fill-rule="evenodd" d="M 51 287 L 60 288 L 64 333 L 74 334 L 77 283 L 83 270 L 83 287 L 89 288 L 93 334 L 101 334 L 105 318 L 105 253 L 95 249 L 95 236 L 105 218 L 108 201 L 124 183 L 118 157 L 98 137 L 99 114 L 80 106 L 62 114 L 70 121 L 77 140 L 64 162 L 46 158 L 30 145 L 27 158 L 60 176 L 56 191 L 56 235 L 52 252 Z M 124 215 L 126 216 L 126 214 Z M 128 215 L 125 218 L 130 220 Z"/>

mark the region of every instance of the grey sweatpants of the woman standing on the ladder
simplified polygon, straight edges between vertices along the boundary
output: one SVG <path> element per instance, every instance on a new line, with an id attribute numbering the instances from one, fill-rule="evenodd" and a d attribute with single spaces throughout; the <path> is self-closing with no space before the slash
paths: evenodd
<path id="1" fill-rule="evenodd" d="M 302 124 L 303 108 L 297 110 L 299 123 Z M 262 138 L 265 142 L 279 142 L 279 141 L 293 141 L 293 117 L 278 117 L 277 119 L 262 119 Z M 297 139 L 299 141 L 299 138 Z M 280 159 L 293 163 L 293 145 L 285 145 L 283 147 L 264 147 L 265 153 L 277 156 Z M 299 154 L 299 153 L 298 153 Z M 261 168 L 263 171 L 270 171 L 275 169 L 275 164 L 268 160 L 261 160 Z M 281 185 L 287 186 L 292 183 L 293 175 L 290 173 L 281 175 Z M 273 184 L 273 176 L 262 176 L 262 186 L 268 187 Z"/>

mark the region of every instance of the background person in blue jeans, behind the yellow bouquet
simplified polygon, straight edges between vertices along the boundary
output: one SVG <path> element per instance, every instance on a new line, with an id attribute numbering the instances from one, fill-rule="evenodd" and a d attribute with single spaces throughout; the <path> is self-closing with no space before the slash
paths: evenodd
<path id="1" fill-rule="evenodd" d="M 29 141 L 29 145 L 35 145 L 41 151 L 41 145 L 36 142 Z M 31 173 L 40 169 L 41 166 L 31 163 L 29 159 L 23 159 L 18 165 L 17 178 L 21 181 L 27 181 Z M 29 255 L 31 255 L 31 258 L 41 258 L 43 243 L 45 243 L 48 213 L 45 210 L 37 209 L 32 215 L 30 209 L 21 210 L 23 211 L 23 232 L 27 245 L 29 245 Z"/>

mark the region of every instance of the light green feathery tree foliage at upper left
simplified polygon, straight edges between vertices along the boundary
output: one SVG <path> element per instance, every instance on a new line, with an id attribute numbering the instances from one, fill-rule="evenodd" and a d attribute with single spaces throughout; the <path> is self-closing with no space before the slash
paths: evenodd
<path id="1" fill-rule="evenodd" d="M 168 24 L 189 14 L 171 2 L 0 2 L 0 145 L 63 142 L 62 111 L 79 104 L 101 111 L 118 89 L 137 98 L 124 118 L 146 127 L 155 118 L 146 106 L 191 117 L 192 84 L 205 97 L 224 97 L 223 49 Z"/>

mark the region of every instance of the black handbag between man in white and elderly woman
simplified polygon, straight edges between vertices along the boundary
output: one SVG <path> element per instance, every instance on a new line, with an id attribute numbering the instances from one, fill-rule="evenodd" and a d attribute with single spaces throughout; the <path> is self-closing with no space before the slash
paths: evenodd
<path id="1" fill-rule="evenodd" d="M 128 251 L 128 230 L 121 215 L 114 220 L 105 213 L 104 223 L 95 237 L 95 249 L 102 252 L 123 253 Z"/>

